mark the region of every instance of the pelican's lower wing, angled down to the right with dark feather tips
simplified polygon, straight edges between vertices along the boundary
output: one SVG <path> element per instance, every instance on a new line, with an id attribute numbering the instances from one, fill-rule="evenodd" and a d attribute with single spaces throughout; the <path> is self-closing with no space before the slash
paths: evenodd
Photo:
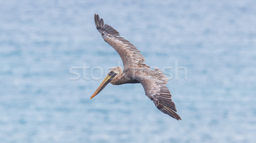
<path id="1" fill-rule="evenodd" d="M 170 115 L 172 118 L 181 120 L 180 116 L 176 113 L 175 104 L 172 102 L 172 95 L 166 87 L 168 79 L 159 69 L 150 70 L 149 72 L 137 74 L 135 79 L 143 85 L 145 94 L 160 111 Z"/>

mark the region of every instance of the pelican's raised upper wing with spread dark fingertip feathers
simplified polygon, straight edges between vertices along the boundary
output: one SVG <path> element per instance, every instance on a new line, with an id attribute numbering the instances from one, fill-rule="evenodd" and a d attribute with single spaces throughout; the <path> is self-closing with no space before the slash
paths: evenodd
<path id="1" fill-rule="evenodd" d="M 99 15 L 94 15 L 95 25 L 99 33 L 102 34 L 102 37 L 105 42 L 111 45 L 119 54 L 126 67 L 140 67 L 149 69 L 147 64 L 143 63 L 145 58 L 142 56 L 139 50 L 132 45 L 128 40 L 120 37 L 119 32 L 117 32 L 110 25 L 105 24 L 103 19 L 99 19 Z"/>

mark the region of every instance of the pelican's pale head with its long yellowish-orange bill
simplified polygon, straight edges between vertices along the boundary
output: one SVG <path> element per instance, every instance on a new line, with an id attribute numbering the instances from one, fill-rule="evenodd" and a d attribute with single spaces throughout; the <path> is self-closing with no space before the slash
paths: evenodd
<path id="1" fill-rule="evenodd" d="M 121 67 L 112 67 L 109 70 L 105 79 L 102 81 L 102 83 L 99 85 L 99 87 L 96 89 L 96 91 L 93 93 L 93 95 L 90 98 L 92 99 L 94 96 L 96 96 L 98 93 L 100 93 L 108 83 L 118 79 L 120 74 L 122 74 Z M 113 84 L 113 83 L 111 82 L 111 84 Z"/>

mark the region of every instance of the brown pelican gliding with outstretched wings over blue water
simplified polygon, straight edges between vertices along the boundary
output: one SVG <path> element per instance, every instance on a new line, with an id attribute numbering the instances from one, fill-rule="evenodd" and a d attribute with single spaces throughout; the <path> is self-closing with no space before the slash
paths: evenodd
<path id="1" fill-rule="evenodd" d="M 156 107 L 172 118 L 181 120 L 176 113 L 175 104 L 172 102 L 172 95 L 166 87 L 168 79 L 158 68 L 150 70 L 147 64 L 143 63 L 145 58 L 139 50 L 128 40 L 120 37 L 110 25 L 105 24 L 99 15 L 94 15 L 95 25 L 105 42 L 111 45 L 122 59 L 124 70 L 121 67 L 113 67 L 108 75 L 99 85 L 97 90 L 90 97 L 91 99 L 103 90 L 110 82 L 113 85 L 141 83 L 144 87 L 145 94 L 150 98 Z"/>

